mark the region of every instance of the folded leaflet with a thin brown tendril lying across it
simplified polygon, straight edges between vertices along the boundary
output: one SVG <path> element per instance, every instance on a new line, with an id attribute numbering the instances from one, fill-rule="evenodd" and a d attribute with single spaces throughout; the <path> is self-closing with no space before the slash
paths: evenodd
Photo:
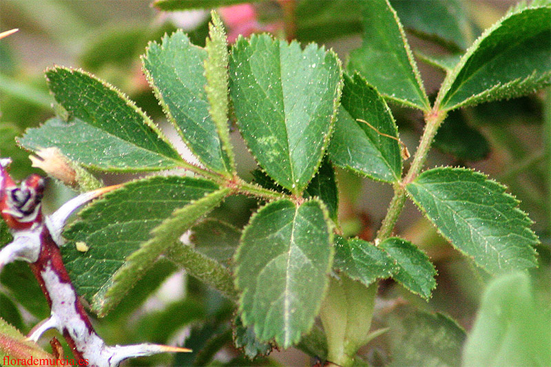
<path id="1" fill-rule="evenodd" d="M 354 74 L 351 78 L 345 74 L 329 157 L 337 166 L 375 180 L 396 182 L 402 176 L 400 146 L 397 140 L 382 134 L 398 137 L 391 110 L 362 76 Z"/>

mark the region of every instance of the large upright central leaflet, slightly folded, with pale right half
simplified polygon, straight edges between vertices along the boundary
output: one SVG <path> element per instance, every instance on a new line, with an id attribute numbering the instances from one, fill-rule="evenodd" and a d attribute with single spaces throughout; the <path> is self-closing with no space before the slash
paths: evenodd
<path id="1" fill-rule="evenodd" d="M 241 134 L 260 167 L 295 194 L 313 178 L 340 97 L 340 61 L 315 44 L 240 38 L 229 62 Z"/>

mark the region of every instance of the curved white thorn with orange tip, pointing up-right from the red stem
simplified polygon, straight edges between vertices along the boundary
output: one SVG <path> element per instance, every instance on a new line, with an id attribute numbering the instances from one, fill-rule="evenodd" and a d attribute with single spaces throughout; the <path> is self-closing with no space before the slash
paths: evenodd
<path id="1" fill-rule="evenodd" d="M 63 226 L 65 225 L 67 218 L 69 218 L 76 209 L 78 209 L 81 205 L 94 200 L 98 196 L 103 195 L 103 193 L 118 189 L 118 187 L 121 187 L 121 185 L 102 187 L 101 189 L 81 193 L 79 196 L 76 196 L 76 198 L 72 198 L 71 200 L 65 202 L 65 204 L 61 205 L 55 213 L 48 216 L 45 219 L 45 223 L 54 242 L 56 242 L 58 246 L 63 244 L 63 238 L 61 237 Z"/>

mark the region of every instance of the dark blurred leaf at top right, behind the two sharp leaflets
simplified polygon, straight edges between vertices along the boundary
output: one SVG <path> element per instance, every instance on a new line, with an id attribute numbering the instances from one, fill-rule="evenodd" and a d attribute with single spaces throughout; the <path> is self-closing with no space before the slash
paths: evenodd
<path id="1" fill-rule="evenodd" d="M 459 0 L 391 0 L 400 21 L 413 34 L 452 50 L 470 45 L 470 25 Z"/>

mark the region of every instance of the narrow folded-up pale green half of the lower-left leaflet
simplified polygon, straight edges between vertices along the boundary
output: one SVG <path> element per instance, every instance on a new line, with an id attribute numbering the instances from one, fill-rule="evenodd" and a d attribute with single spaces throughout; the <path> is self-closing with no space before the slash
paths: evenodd
<path id="1" fill-rule="evenodd" d="M 200 217 L 217 207 L 230 193 L 230 189 L 220 189 L 208 193 L 203 198 L 189 202 L 185 207 L 174 210 L 169 218 L 152 229 L 151 240 L 125 258 L 125 263 L 112 275 L 109 288 L 103 288 L 96 294 L 96 304 L 101 299 L 101 308 L 96 311 L 105 315 L 124 297 L 128 289 L 148 271 L 163 252 L 175 243 Z"/>

